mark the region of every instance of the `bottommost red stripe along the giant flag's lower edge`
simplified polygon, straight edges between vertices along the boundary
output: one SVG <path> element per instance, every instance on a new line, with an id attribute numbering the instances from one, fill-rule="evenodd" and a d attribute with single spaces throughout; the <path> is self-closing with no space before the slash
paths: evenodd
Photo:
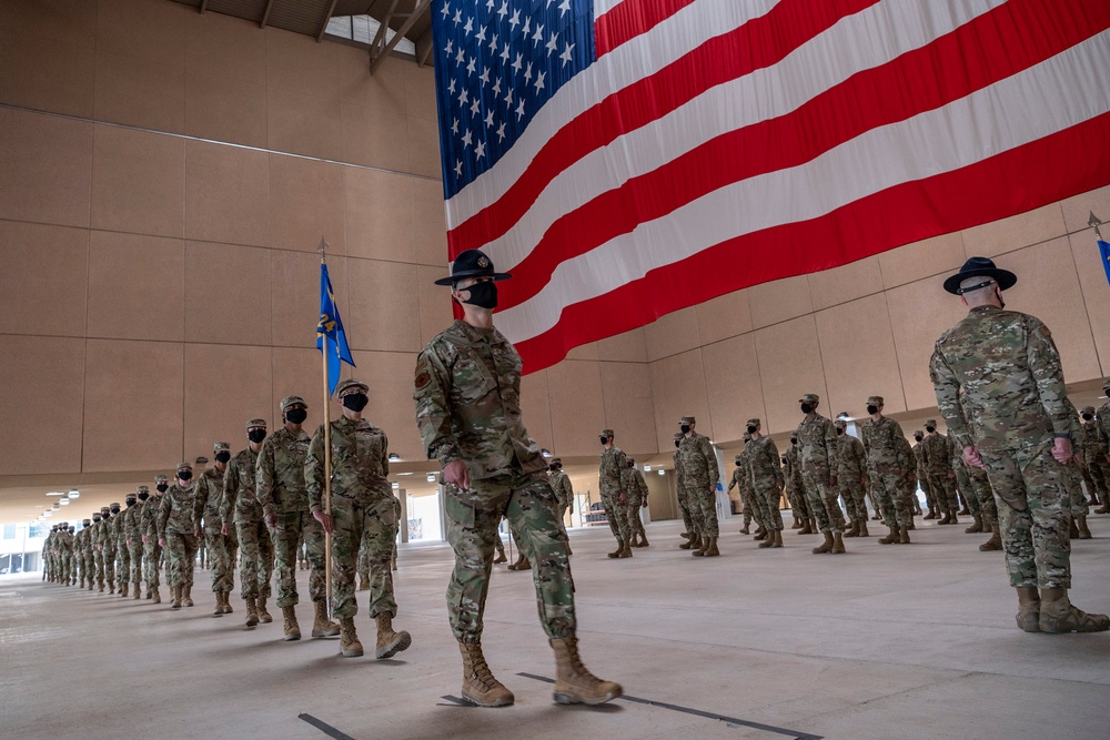
<path id="1" fill-rule="evenodd" d="M 899 184 L 819 219 L 728 240 L 603 296 L 567 306 L 554 328 L 516 343 L 524 369 L 544 369 L 563 359 L 571 347 L 749 285 L 827 270 L 1101 187 L 1110 183 L 1108 140 L 1110 113 L 1104 113 L 967 168 Z M 1046 168 L 1046 162 L 1068 165 Z M 837 253 L 815 249 L 837 245 Z M 650 304 L 642 300 L 645 295 L 652 296 Z"/>

